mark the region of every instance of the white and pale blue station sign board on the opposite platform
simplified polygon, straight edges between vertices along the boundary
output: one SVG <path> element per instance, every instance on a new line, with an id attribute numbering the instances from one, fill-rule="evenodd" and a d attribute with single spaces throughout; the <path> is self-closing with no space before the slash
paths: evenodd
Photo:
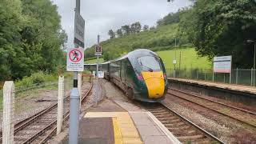
<path id="1" fill-rule="evenodd" d="M 232 56 L 214 57 L 214 73 L 231 73 Z"/>

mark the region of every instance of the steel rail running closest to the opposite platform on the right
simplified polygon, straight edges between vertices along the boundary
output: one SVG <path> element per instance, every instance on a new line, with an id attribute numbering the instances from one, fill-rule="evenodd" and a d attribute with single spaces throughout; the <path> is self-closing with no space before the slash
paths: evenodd
<path id="1" fill-rule="evenodd" d="M 245 112 L 245 113 L 248 113 L 248 114 L 253 114 L 253 115 L 256 115 L 256 113 L 250 111 L 250 110 L 245 110 L 245 109 L 242 109 L 242 108 L 239 108 L 239 107 L 235 107 L 235 106 L 231 106 L 231 105 L 228 105 L 226 103 L 223 103 L 223 102 L 217 102 L 217 101 L 214 101 L 214 100 L 211 100 L 210 98 L 203 98 L 201 96 L 198 96 L 196 94 L 190 94 L 188 92 L 185 92 L 185 91 L 182 91 L 182 90 L 176 90 L 176 89 L 173 89 L 173 88 L 169 88 L 170 90 L 174 90 L 174 91 L 178 91 L 179 93 L 183 93 L 183 94 L 188 94 L 188 95 L 191 95 L 191 96 L 194 96 L 194 97 L 197 97 L 197 98 L 201 98 L 201 99 L 204 99 L 204 100 L 207 100 L 207 101 L 210 101 L 210 102 L 214 102 L 214 103 L 218 103 L 222 106 L 227 106 L 227 107 L 231 107 L 235 110 L 240 110 L 242 112 Z"/>

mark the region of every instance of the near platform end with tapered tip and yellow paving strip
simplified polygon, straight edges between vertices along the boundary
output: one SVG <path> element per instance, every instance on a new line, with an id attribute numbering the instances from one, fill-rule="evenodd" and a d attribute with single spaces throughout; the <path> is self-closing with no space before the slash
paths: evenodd
<path id="1" fill-rule="evenodd" d="M 180 143 L 153 114 L 121 100 L 86 110 L 79 127 L 79 143 Z"/>

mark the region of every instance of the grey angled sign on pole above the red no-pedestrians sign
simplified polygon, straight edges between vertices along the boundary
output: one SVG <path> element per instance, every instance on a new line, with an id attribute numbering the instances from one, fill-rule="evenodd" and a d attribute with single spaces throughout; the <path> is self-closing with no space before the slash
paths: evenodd
<path id="1" fill-rule="evenodd" d="M 80 14 L 75 12 L 74 16 L 74 44 L 85 47 L 85 20 Z"/>

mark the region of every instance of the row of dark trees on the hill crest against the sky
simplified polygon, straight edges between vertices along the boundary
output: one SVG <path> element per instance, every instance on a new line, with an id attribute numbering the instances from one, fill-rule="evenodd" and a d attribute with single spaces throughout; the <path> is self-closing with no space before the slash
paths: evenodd
<path id="1" fill-rule="evenodd" d="M 147 31 L 147 30 L 152 30 L 154 29 L 154 26 L 147 26 L 144 25 L 142 27 L 140 22 L 134 22 L 131 25 L 125 25 L 122 26 L 120 29 L 114 31 L 114 30 L 109 30 L 108 34 L 110 35 L 110 38 L 120 38 L 125 35 L 130 35 L 130 34 L 138 34 L 142 30 Z"/>

